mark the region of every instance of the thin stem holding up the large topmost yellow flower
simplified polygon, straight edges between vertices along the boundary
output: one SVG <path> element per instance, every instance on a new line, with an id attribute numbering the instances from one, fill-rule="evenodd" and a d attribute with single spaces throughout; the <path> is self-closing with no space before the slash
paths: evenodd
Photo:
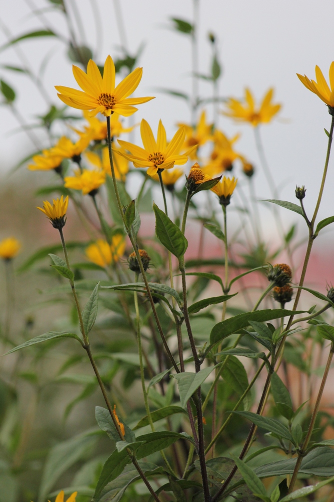
<path id="1" fill-rule="evenodd" d="M 113 155 L 112 155 L 112 147 L 111 147 L 112 139 L 111 139 L 111 131 L 110 131 L 110 117 L 106 117 L 106 119 L 107 119 L 108 151 L 109 151 L 109 160 L 110 160 L 110 166 L 111 166 L 111 175 L 112 175 L 112 178 L 113 178 L 114 190 L 115 190 L 115 195 L 116 195 L 118 209 L 120 211 L 120 214 L 121 214 L 123 222 L 124 222 L 123 206 L 122 206 L 120 194 L 119 194 L 118 187 L 117 187 L 117 180 L 116 180 L 116 176 L 115 176 L 115 168 L 114 168 L 114 163 L 113 163 Z M 151 308 L 152 308 L 152 311 L 153 311 L 154 319 L 155 319 L 155 322 L 157 324 L 159 334 L 161 336 L 161 339 L 162 339 L 162 342 L 164 344 L 165 350 L 167 352 L 167 355 L 168 355 L 168 357 L 169 357 L 169 359 L 170 359 L 170 361 L 171 361 L 171 363 L 172 363 L 175 371 L 177 373 L 179 373 L 180 370 L 179 370 L 179 368 L 178 368 L 178 366 L 177 366 L 177 364 L 175 362 L 175 359 L 174 359 L 174 357 L 173 357 L 173 355 L 172 355 L 172 353 L 171 353 L 171 351 L 170 351 L 170 349 L 168 347 L 167 340 L 166 340 L 164 332 L 162 330 L 162 327 L 161 327 L 161 324 L 160 324 L 160 321 L 159 321 L 159 317 L 158 317 L 158 314 L 157 314 L 157 311 L 156 311 L 156 308 L 155 308 L 155 305 L 154 305 L 154 302 L 153 302 L 152 293 L 151 293 L 151 290 L 150 290 L 150 287 L 149 287 L 149 284 L 148 284 L 148 281 L 147 281 L 147 276 L 146 276 L 146 273 L 145 273 L 145 270 L 144 270 L 144 267 L 143 267 L 142 259 L 141 259 L 141 256 L 140 256 L 139 252 L 138 252 L 138 246 L 137 246 L 134 238 L 132 237 L 131 232 L 129 232 L 129 238 L 130 238 L 131 244 L 133 246 L 134 252 L 136 254 L 136 258 L 138 260 L 139 268 L 140 268 L 140 271 L 141 271 L 142 276 L 143 276 L 143 281 L 145 283 L 145 288 L 146 288 L 147 296 L 148 296 L 148 299 L 149 299 L 149 302 L 150 302 L 150 305 L 151 305 Z"/>

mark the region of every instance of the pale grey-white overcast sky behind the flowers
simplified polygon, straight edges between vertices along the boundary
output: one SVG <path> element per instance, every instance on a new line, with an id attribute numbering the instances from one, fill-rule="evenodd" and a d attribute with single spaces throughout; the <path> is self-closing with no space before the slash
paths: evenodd
<path id="1" fill-rule="evenodd" d="M 41 9 L 51 5 L 47 0 L 33 1 Z M 70 8 L 72 1 L 68 2 Z M 31 16 L 27 5 L 29 2 L 32 0 L 2 3 L 2 22 L 15 36 L 43 28 L 41 22 Z M 103 62 L 108 53 L 117 58 L 119 31 L 112 0 L 77 0 L 89 44 L 95 47 L 97 40 L 92 12 L 94 3 L 99 6 L 102 15 L 103 46 L 99 48 L 98 61 Z M 169 87 L 189 92 L 191 53 L 189 39 L 164 29 L 164 26 L 168 25 L 168 19 L 172 16 L 191 21 L 192 0 L 119 0 L 119 3 L 130 52 L 135 52 L 140 43 L 145 42 L 140 60 L 144 74 L 137 95 L 157 96 L 153 101 L 140 106 L 135 114 L 135 121 L 139 122 L 145 117 L 153 130 L 156 130 L 161 118 L 171 137 L 175 132 L 176 122 L 189 121 L 189 110 L 182 100 L 159 94 L 156 88 Z M 282 187 L 280 198 L 296 202 L 294 187 L 296 184 L 304 184 L 307 188 L 305 206 L 309 211 L 314 207 L 320 184 L 327 139 L 323 128 L 329 129 L 330 116 L 325 105 L 302 86 L 295 74 L 306 73 L 314 78 L 314 66 L 318 64 L 328 78 L 329 65 L 334 59 L 331 29 L 333 12 L 334 4 L 331 0 L 320 0 L 317 3 L 309 0 L 202 0 L 200 3 L 200 72 L 209 70 L 211 51 L 207 33 L 212 31 L 218 37 L 224 71 L 220 95 L 241 97 L 243 88 L 247 85 L 259 99 L 270 86 L 275 87 L 275 99 L 283 104 L 279 117 L 284 120 L 275 120 L 262 128 L 267 158 L 275 179 L 279 180 Z M 50 20 L 50 25 L 66 33 L 59 14 L 45 11 L 44 15 Z M 0 44 L 6 41 L 6 37 L 0 32 Z M 39 68 L 44 55 L 54 51 L 49 55 L 45 83 L 52 100 L 60 104 L 57 103 L 53 86 L 76 86 L 71 64 L 64 58 L 64 45 L 54 39 L 40 39 L 27 41 L 21 44 L 21 48 L 34 68 Z M 0 64 L 20 65 L 20 62 L 11 49 L 0 53 Z M 45 102 L 26 77 L 1 68 L 0 76 L 17 90 L 20 112 L 27 119 L 31 120 L 34 115 L 46 112 Z M 200 93 L 203 96 L 211 95 L 207 82 L 200 82 Z M 211 116 L 210 105 L 207 110 Z M 18 124 L 4 107 L 1 108 L 1 113 L 0 169 L 4 171 L 32 151 L 33 146 L 23 134 L 9 135 L 8 132 L 13 132 Z M 236 132 L 242 133 L 238 151 L 258 167 L 256 184 L 259 198 L 270 198 L 260 170 L 252 129 L 248 126 L 235 126 L 222 116 L 219 127 L 228 136 Z M 332 158 L 320 218 L 333 214 L 333 167 Z M 283 217 L 290 218 L 290 213 L 286 212 L 282 213 Z M 294 215 L 291 216 L 294 219 Z"/>

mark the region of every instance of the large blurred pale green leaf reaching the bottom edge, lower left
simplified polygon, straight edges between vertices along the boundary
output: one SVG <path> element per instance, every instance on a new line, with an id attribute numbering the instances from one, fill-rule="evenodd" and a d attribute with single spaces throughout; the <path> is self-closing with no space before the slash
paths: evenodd
<path id="1" fill-rule="evenodd" d="M 46 461 L 39 490 L 39 501 L 44 502 L 57 479 L 75 463 L 91 453 L 98 436 L 84 433 L 51 448 Z"/>

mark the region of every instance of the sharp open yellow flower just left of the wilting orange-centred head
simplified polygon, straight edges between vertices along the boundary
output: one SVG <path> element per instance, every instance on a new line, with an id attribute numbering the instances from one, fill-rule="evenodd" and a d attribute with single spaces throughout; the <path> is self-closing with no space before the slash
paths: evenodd
<path id="1" fill-rule="evenodd" d="M 188 152 L 180 155 L 186 134 L 185 128 L 178 129 L 171 142 L 167 144 L 166 131 L 161 120 L 159 121 L 157 141 L 155 141 L 152 129 L 144 118 L 140 124 L 140 134 L 144 148 L 137 147 L 127 141 L 117 140 L 121 147 L 128 150 L 131 155 L 123 153 L 122 150 L 119 151 L 119 154 L 133 162 L 135 167 L 148 167 L 147 174 L 149 176 L 156 174 L 158 169 L 171 169 L 174 164 L 185 164 L 188 155 L 196 148 L 194 146 Z"/>

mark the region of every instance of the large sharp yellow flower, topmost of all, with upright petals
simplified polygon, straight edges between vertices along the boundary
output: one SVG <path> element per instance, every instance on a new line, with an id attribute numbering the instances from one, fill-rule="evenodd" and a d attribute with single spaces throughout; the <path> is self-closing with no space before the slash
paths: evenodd
<path id="1" fill-rule="evenodd" d="M 80 110 L 92 110 L 91 116 L 101 112 L 109 117 L 116 111 L 119 115 L 127 117 L 137 111 L 132 105 L 153 99 L 151 96 L 128 98 L 137 89 L 142 74 L 143 69 L 136 68 L 115 88 L 115 65 L 112 58 L 108 56 L 106 59 L 103 78 L 96 63 L 90 59 L 87 74 L 78 66 L 73 66 L 74 78 L 84 92 L 62 85 L 56 85 L 56 89 L 59 91 L 58 97 L 65 104 Z"/>

